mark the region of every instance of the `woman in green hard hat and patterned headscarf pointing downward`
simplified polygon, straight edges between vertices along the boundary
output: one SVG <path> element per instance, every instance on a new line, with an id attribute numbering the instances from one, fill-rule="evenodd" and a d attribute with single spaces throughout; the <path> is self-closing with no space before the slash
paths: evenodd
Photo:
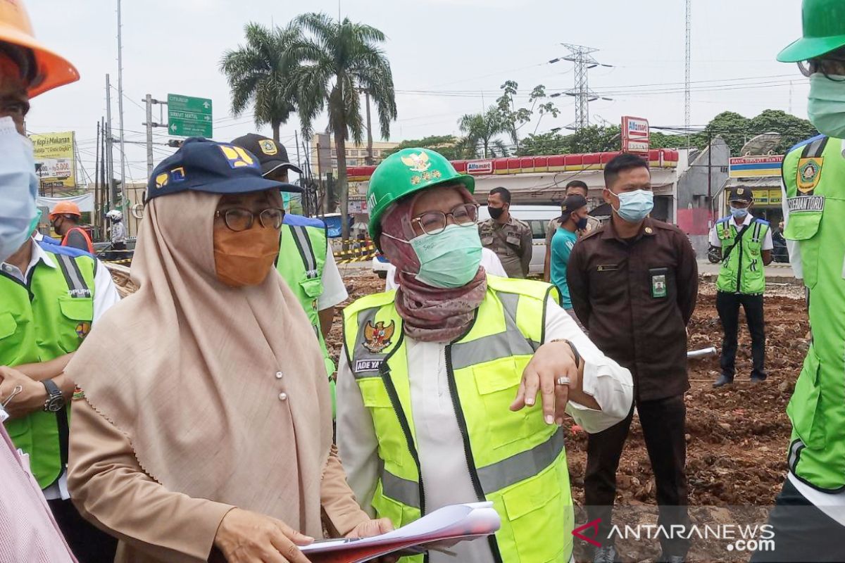
<path id="1" fill-rule="evenodd" d="M 493 502 L 495 536 L 430 563 L 568 561 L 564 412 L 589 432 L 622 420 L 630 372 L 586 338 L 551 285 L 479 266 L 474 187 L 428 149 L 373 172 L 370 234 L 400 287 L 344 310 L 338 447 L 358 501 L 394 526 Z"/>

